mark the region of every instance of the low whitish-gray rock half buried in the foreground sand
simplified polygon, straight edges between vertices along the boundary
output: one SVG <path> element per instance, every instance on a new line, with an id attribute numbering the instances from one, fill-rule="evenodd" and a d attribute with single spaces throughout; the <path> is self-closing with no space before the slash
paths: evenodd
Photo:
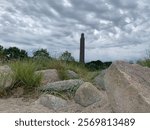
<path id="1" fill-rule="evenodd" d="M 53 109 L 55 111 L 62 109 L 63 107 L 67 106 L 67 101 L 53 96 L 53 95 L 44 95 L 39 98 L 39 103 L 49 109 Z"/>

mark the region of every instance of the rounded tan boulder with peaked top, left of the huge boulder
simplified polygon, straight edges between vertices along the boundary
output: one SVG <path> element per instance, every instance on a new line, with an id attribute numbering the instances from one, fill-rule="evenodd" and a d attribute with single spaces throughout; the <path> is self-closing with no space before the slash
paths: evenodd
<path id="1" fill-rule="evenodd" d="M 100 91 L 89 82 L 82 84 L 76 91 L 74 100 L 76 103 L 87 107 L 101 100 Z"/>

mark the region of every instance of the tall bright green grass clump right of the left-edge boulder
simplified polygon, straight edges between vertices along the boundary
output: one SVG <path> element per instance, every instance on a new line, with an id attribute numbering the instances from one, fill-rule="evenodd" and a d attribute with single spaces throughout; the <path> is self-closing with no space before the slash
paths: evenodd
<path id="1" fill-rule="evenodd" d="M 36 74 L 36 65 L 31 61 L 17 61 L 11 64 L 15 85 L 23 86 L 28 89 L 39 87 L 42 79 L 41 74 Z"/>

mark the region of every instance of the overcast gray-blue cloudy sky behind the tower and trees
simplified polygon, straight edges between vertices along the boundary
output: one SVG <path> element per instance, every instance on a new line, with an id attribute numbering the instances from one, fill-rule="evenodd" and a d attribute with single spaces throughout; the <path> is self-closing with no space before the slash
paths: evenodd
<path id="1" fill-rule="evenodd" d="M 86 61 L 135 60 L 150 46 L 150 0 L 0 0 L 0 44 L 29 53 L 65 50 Z"/>

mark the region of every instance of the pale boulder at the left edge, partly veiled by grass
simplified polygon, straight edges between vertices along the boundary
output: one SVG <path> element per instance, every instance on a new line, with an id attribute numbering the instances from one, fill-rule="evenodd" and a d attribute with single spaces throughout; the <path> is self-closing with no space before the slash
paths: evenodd
<path id="1" fill-rule="evenodd" d="M 12 70 L 8 65 L 0 66 L 0 87 L 8 88 L 13 84 Z"/>

